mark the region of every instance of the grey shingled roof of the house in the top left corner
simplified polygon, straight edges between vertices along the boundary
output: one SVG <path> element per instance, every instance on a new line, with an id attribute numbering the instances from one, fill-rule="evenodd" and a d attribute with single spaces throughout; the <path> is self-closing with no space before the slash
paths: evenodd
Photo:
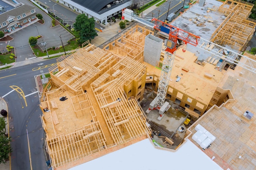
<path id="1" fill-rule="evenodd" d="M 17 7 L 17 8 L 14 8 L 14 9 L 12 9 L 10 11 L 2 13 L 0 15 L 0 23 L 5 22 L 9 18 L 9 16 L 16 17 L 16 16 L 21 15 L 23 13 L 26 13 L 27 11 L 30 11 L 32 9 L 35 9 L 35 7 L 31 7 L 29 5 L 25 5 L 24 4 L 24 5 L 21 5 L 21 6 Z"/>

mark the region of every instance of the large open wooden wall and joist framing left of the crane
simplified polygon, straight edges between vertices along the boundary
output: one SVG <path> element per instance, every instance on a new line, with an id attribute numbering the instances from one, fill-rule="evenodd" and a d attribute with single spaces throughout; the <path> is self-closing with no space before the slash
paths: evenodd
<path id="1" fill-rule="evenodd" d="M 135 25 L 106 48 L 88 42 L 49 68 L 51 79 L 40 108 L 54 169 L 84 163 L 107 154 L 114 145 L 123 147 L 150 134 L 138 103 L 146 82 L 142 61 L 149 33 L 153 30 Z M 63 96 L 67 100 L 60 101 Z"/>

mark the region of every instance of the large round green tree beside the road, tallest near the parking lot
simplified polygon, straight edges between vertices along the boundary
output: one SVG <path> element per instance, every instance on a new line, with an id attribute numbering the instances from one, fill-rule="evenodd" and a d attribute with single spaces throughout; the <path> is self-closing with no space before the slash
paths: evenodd
<path id="1" fill-rule="evenodd" d="M 74 23 L 74 28 L 79 31 L 80 40 L 79 44 L 87 40 L 94 39 L 98 34 L 96 33 L 94 18 L 88 18 L 85 14 L 80 14 L 76 17 L 76 22 Z"/>

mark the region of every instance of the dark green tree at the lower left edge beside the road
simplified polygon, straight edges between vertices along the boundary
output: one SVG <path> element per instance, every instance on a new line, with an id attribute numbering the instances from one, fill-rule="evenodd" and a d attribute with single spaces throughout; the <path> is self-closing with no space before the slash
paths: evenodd
<path id="1" fill-rule="evenodd" d="M 10 141 L 11 138 L 5 135 L 5 119 L 0 117 L 0 163 L 6 163 L 6 159 L 9 157 L 9 153 L 11 153 Z"/>

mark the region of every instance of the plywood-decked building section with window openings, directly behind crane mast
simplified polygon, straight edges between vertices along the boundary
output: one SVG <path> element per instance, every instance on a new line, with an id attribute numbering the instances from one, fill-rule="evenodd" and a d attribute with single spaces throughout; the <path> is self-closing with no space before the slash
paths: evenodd
<path id="1" fill-rule="evenodd" d="M 202 115 L 207 110 L 207 106 L 223 74 L 216 69 L 216 66 L 209 63 L 202 66 L 197 64 L 196 60 L 197 57 L 189 51 L 184 53 L 182 48 L 176 51 L 167 97 L 173 102 L 176 99 L 180 100 L 180 106 L 185 107 L 185 105 L 188 105 L 190 110 L 197 109 Z M 184 71 L 182 68 L 186 68 L 189 71 Z M 147 64 L 146 83 L 155 83 L 156 91 L 160 72 L 159 68 Z M 212 75 L 212 78 L 205 77 L 205 73 Z M 181 77 L 180 82 L 176 82 L 177 75 Z"/>

